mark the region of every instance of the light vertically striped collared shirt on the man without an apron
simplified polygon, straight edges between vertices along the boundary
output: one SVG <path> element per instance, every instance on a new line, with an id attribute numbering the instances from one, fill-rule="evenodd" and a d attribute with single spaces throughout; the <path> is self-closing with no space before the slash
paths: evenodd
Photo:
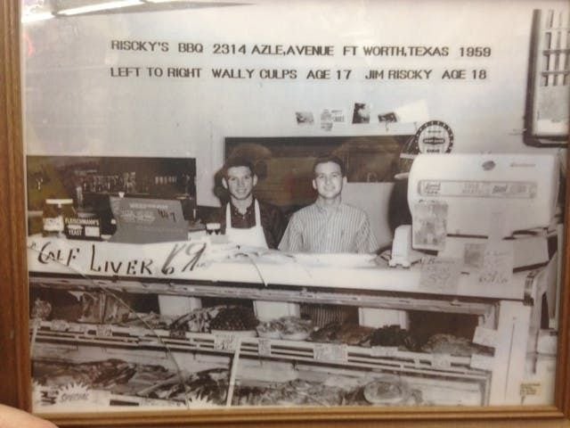
<path id="1" fill-rule="evenodd" d="M 378 250 L 368 216 L 340 202 L 325 207 L 314 202 L 289 221 L 279 249 L 290 252 L 374 252 Z"/>

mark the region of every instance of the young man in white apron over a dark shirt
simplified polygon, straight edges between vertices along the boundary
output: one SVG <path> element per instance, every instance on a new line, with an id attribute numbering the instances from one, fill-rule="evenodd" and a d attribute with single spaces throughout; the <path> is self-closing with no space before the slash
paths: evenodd
<path id="1" fill-rule="evenodd" d="M 281 210 L 254 197 L 256 184 L 257 176 L 248 160 L 233 158 L 226 162 L 222 185 L 230 202 L 222 208 L 222 232 L 238 245 L 275 249 L 287 224 Z"/>

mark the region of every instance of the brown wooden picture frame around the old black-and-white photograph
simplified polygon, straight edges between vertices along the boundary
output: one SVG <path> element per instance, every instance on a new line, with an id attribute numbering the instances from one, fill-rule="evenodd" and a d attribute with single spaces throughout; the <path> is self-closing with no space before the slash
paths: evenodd
<path id="1" fill-rule="evenodd" d="M 0 402 L 31 409 L 28 350 L 28 269 L 26 263 L 25 172 L 22 142 L 20 7 L 0 4 Z M 7 61 L 5 61 L 7 60 Z M 570 210 L 566 178 L 566 209 Z M 557 383 L 554 406 L 262 408 L 168 412 L 50 414 L 59 426 L 570 426 L 570 266 L 565 231 L 564 279 L 560 298 Z"/>

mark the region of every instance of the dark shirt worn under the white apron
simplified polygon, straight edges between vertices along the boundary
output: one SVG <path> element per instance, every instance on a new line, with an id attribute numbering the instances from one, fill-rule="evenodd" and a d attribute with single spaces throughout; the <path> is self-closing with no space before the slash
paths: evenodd
<path id="1" fill-rule="evenodd" d="M 255 201 L 255 200 L 254 200 Z M 276 249 L 277 245 L 281 241 L 281 236 L 285 232 L 285 227 L 287 222 L 285 217 L 281 213 L 279 208 L 271 205 L 269 203 L 261 202 L 259 203 L 259 215 L 261 216 L 261 226 L 264 229 L 265 242 L 269 248 Z M 238 229 L 248 229 L 250 227 L 256 226 L 256 210 L 254 209 L 255 203 L 251 203 L 248 206 L 245 214 L 241 214 L 240 211 L 235 208 L 231 202 L 230 203 L 230 217 L 232 218 L 232 227 Z M 220 223 L 222 226 L 222 233 L 225 233 L 225 205 L 222 207 L 220 214 Z"/>

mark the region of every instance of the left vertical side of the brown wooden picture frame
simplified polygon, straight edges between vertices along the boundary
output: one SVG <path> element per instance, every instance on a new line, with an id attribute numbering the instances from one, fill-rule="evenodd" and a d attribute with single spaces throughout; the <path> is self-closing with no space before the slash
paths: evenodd
<path id="1" fill-rule="evenodd" d="M 19 3 L 0 2 L 0 402 L 29 408 Z"/>

